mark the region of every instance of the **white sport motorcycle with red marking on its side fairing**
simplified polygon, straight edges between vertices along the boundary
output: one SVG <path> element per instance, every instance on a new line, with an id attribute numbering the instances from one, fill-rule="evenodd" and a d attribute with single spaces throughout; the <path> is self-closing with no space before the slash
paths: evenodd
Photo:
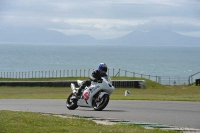
<path id="1" fill-rule="evenodd" d="M 77 80 L 79 86 L 82 83 L 83 81 Z M 106 76 L 102 77 L 101 80 L 91 81 L 91 85 L 82 90 L 79 99 L 74 99 L 79 88 L 76 88 L 75 84 L 71 83 L 71 89 L 72 93 L 66 101 L 66 107 L 69 110 L 74 110 L 77 107 L 93 107 L 95 111 L 101 111 L 107 106 L 115 87 L 112 85 L 110 77 Z"/>

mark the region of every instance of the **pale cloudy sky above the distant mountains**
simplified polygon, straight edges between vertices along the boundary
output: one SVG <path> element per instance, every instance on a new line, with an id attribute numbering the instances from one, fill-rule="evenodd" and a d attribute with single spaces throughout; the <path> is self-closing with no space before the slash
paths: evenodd
<path id="1" fill-rule="evenodd" d="M 200 0 L 0 0 L 0 29 L 7 27 L 96 39 L 151 30 L 200 37 Z"/>

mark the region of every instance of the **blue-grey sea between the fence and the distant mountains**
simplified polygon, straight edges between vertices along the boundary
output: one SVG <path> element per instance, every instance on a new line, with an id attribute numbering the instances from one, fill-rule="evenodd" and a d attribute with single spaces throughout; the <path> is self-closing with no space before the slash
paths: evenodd
<path id="1" fill-rule="evenodd" d="M 0 44 L 0 72 L 109 68 L 188 77 L 200 72 L 200 47 Z"/>

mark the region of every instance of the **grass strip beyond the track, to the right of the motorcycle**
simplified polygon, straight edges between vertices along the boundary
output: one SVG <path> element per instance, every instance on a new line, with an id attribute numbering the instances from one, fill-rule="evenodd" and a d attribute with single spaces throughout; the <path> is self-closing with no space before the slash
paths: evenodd
<path id="1" fill-rule="evenodd" d="M 117 89 L 112 95 L 113 100 L 162 100 L 162 101 L 200 101 L 200 88 L 185 86 L 165 89 L 127 89 L 130 96 L 122 96 L 123 88 Z"/>

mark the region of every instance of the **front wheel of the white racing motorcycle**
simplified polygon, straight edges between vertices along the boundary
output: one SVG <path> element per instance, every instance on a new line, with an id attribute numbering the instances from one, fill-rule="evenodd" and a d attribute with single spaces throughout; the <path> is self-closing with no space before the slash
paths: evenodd
<path id="1" fill-rule="evenodd" d="M 93 106 L 94 110 L 95 111 L 103 110 L 107 106 L 109 99 L 110 99 L 110 97 L 108 94 L 103 95 L 103 97 L 101 99 L 93 99 L 92 106 Z"/>

